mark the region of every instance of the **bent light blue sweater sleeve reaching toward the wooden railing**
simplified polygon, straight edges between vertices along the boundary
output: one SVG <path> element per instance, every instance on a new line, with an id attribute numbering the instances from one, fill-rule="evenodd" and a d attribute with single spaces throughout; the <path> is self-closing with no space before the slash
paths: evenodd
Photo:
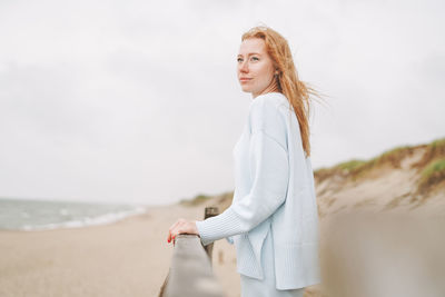
<path id="1" fill-rule="evenodd" d="M 250 136 L 249 165 L 253 186 L 248 195 L 224 212 L 196 221 L 204 246 L 248 232 L 285 201 L 289 176 L 287 150 L 265 130 Z"/>

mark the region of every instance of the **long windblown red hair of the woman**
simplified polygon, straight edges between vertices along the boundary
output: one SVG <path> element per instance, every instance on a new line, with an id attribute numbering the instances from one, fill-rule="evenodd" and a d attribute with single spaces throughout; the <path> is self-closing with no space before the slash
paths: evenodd
<path id="1" fill-rule="evenodd" d="M 309 97 L 310 95 L 320 96 L 315 89 L 298 79 L 289 44 L 281 34 L 266 26 L 258 26 L 245 32 L 241 37 L 241 41 L 248 38 L 260 38 L 265 41 L 266 51 L 271 58 L 275 69 L 278 70 L 278 76 L 276 76 L 276 78 L 279 91 L 286 96 L 294 108 L 299 123 L 303 149 L 306 156 L 309 157 Z"/>

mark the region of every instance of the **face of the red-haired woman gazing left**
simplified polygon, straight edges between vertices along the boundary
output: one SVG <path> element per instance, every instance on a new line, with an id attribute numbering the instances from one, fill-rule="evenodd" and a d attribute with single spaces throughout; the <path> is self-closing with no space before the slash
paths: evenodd
<path id="1" fill-rule="evenodd" d="M 248 38 L 241 42 L 238 53 L 238 80 L 245 92 L 253 97 L 265 93 L 275 82 L 274 63 L 260 38 Z"/>

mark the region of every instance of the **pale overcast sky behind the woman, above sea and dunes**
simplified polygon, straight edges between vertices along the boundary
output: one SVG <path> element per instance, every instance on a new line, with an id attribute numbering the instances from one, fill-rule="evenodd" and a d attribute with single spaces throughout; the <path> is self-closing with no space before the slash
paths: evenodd
<path id="1" fill-rule="evenodd" d="M 314 169 L 445 136 L 443 1 L 0 2 L 0 197 L 169 204 L 234 188 L 241 34 L 290 44 Z"/>

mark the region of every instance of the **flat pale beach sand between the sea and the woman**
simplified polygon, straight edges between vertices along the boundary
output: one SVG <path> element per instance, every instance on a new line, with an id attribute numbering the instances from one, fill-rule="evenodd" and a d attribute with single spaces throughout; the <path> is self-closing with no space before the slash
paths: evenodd
<path id="1" fill-rule="evenodd" d="M 0 231 L 0 296 L 157 296 L 170 267 L 168 228 L 202 219 L 204 207 L 151 207 L 122 221 L 73 229 Z M 214 246 L 214 271 L 239 296 L 235 247 Z"/>

